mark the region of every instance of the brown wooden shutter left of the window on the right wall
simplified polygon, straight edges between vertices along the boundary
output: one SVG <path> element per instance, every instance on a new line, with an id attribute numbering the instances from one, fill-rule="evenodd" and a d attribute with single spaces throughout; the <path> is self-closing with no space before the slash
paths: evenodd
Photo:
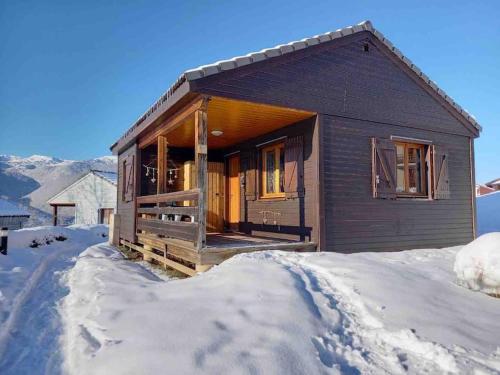
<path id="1" fill-rule="evenodd" d="M 389 139 L 372 138 L 374 198 L 396 198 L 396 146 Z"/>

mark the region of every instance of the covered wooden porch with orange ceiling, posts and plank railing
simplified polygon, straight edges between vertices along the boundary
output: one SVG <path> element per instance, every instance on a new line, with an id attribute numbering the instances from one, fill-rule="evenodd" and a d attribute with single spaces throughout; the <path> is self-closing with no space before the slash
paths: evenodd
<path id="1" fill-rule="evenodd" d="M 137 241 L 121 244 L 188 275 L 241 252 L 314 251 L 311 228 L 286 217 L 295 215 L 291 205 L 304 210 L 297 177 L 302 161 L 273 146 L 266 172 L 259 169 L 259 155 L 249 158 L 241 146 L 314 115 L 221 97 L 199 96 L 186 104 L 139 138 Z M 282 133 L 258 144 L 259 150 L 285 145 Z M 252 217 L 249 205 L 255 207 Z"/>

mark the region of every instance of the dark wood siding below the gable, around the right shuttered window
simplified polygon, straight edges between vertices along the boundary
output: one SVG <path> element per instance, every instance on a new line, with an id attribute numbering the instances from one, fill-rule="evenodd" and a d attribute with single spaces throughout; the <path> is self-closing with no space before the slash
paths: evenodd
<path id="1" fill-rule="evenodd" d="M 473 239 L 469 138 L 369 121 L 321 116 L 326 251 L 389 251 L 463 244 Z M 372 137 L 431 140 L 449 150 L 451 198 L 372 197 Z"/>

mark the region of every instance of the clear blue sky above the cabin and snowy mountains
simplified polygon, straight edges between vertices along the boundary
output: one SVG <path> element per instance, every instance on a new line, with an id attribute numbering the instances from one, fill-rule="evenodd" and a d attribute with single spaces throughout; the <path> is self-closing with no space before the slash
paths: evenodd
<path id="1" fill-rule="evenodd" d="M 484 182 L 500 177 L 499 8 L 457 0 L 0 0 L 0 154 L 109 154 L 182 71 L 370 19 L 483 125 L 476 163 Z"/>

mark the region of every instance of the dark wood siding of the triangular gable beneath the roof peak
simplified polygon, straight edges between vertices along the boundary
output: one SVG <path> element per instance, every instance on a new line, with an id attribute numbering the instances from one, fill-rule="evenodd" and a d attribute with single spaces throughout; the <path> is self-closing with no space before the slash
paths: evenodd
<path id="1" fill-rule="evenodd" d="M 370 44 L 369 52 L 363 46 Z M 471 132 L 378 40 L 360 33 L 191 83 L 211 95 L 452 134 Z M 446 106 L 446 104 L 444 104 Z"/>

